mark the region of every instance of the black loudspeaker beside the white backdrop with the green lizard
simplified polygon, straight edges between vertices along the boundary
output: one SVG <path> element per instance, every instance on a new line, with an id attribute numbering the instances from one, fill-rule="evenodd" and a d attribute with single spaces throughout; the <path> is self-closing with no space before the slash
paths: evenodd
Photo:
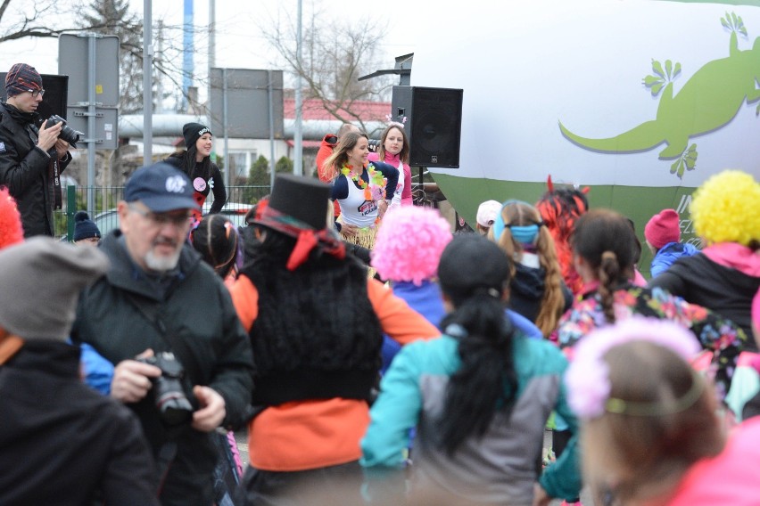
<path id="1" fill-rule="evenodd" d="M 462 94 L 452 88 L 393 86 L 393 121 L 406 118 L 409 165 L 459 167 Z"/>

